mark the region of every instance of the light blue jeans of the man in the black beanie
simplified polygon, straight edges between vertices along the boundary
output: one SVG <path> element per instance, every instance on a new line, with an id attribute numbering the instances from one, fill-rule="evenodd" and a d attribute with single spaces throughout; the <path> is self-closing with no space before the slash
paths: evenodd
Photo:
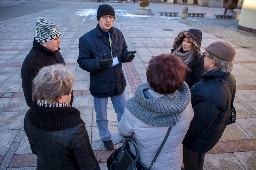
<path id="1" fill-rule="evenodd" d="M 108 116 L 107 116 L 107 106 L 108 106 L 108 98 L 94 98 L 94 108 L 96 112 L 96 123 L 99 129 L 99 137 L 103 141 L 111 140 L 111 133 L 108 129 Z M 123 92 L 121 95 L 116 95 L 110 97 L 113 107 L 115 109 L 115 113 L 117 113 L 117 121 L 119 122 L 121 117 L 123 116 L 124 108 L 125 108 L 125 93 Z"/>

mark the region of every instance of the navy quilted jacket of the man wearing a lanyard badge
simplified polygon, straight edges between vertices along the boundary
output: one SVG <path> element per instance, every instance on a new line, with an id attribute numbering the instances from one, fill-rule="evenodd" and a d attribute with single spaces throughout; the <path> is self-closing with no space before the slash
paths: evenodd
<path id="1" fill-rule="evenodd" d="M 103 31 L 99 23 L 96 28 L 87 32 L 79 39 L 78 64 L 87 72 L 90 72 L 90 92 L 94 97 L 112 97 L 124 92 L 126 80 L 122 70 L 122 63 L 125 59 L 127 45 L 123 33 L 112 27 L 111 34 L 113 55 L 117 55 L 119 64 L 102 69 L 99 66 L 99 58 L 106 54 L 105 59 L 111 58 L 108 32 Z"/>

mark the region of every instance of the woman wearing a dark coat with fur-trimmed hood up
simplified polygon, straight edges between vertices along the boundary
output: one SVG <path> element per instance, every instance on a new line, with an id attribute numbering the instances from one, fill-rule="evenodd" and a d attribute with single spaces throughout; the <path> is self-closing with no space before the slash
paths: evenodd
<path id="1" fill-rule="evenodd" d="M 200 46 L 202 32 L 197 29 L 181 31 L 173 42 L 172 54 L 179 57 L 183 63 L 191 70 L 187 71 L 185 82 L 189 88 L 200 81 L 200 76 L 204 74 L 203 57 L 201 57 Z"/>

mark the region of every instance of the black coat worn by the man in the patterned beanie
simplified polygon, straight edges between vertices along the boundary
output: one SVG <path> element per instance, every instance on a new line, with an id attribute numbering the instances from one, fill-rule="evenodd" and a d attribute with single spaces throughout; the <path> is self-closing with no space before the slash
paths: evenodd
<path id="1" fill-rule="evenodd" d="M 37 75 L 39 69 L 56 63 L 65 64 L 59 49 L 52 52 L 34 39 L 33 47 L 29 51 L 29 54 L 23 61 L 21 67 L 22 88 L 26 103 L 29 107 L 31 107 L 32 103 L 32 81 Z M 71 103 L 72 100 L 73 95 L 71 98 Z"/>

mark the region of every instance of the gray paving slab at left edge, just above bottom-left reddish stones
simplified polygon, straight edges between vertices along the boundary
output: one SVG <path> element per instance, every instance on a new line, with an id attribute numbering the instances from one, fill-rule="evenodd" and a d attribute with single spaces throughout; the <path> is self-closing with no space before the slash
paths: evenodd
<path id="1" fill-rule="evenodd" d="M 19 130 L 0 130 L 0 136 L 5 136 L 0 138 L 0 155 L 7 154 L 18 132 Z"/>

